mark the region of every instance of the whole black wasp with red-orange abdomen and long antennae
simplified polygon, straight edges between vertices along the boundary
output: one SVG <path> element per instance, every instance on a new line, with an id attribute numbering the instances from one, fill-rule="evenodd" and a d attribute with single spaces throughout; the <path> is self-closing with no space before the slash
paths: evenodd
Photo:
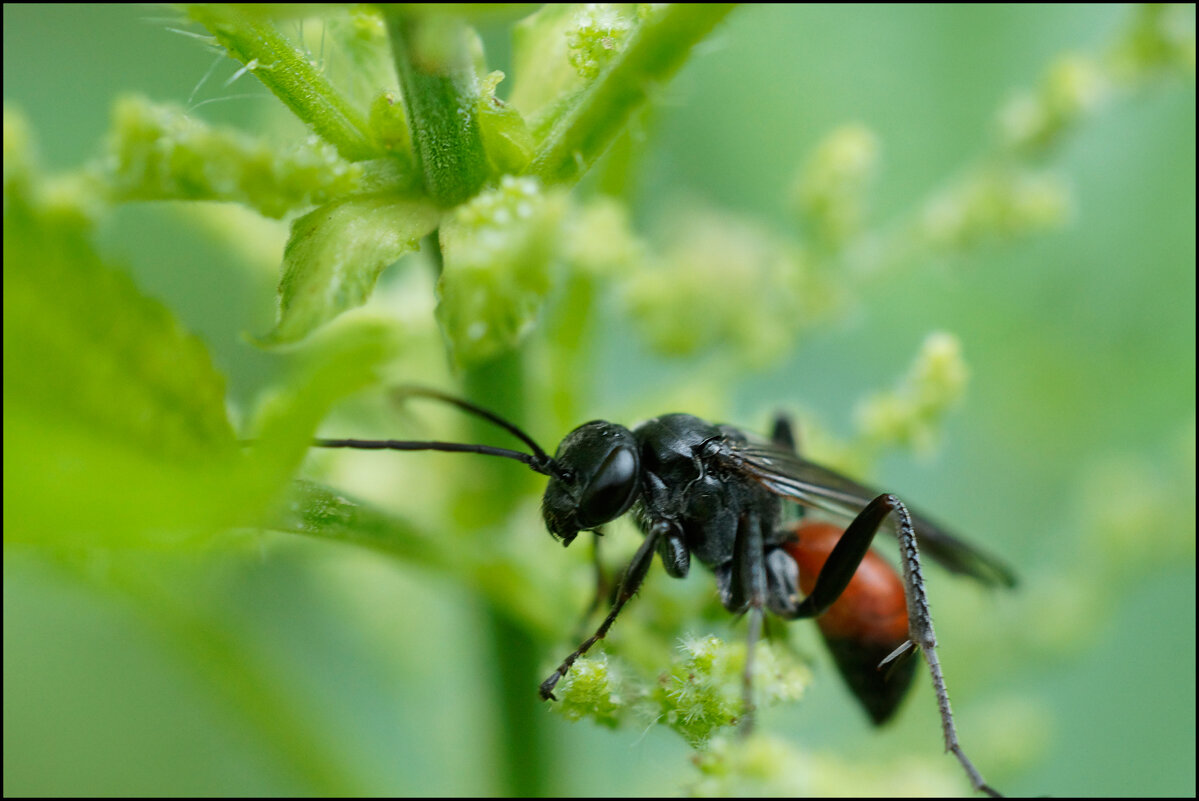
<path id="1" fill-rule="evenodd" d="M 687 574 L 694 556 L 716 574 L 724 608 L 748 615 L 743 730 L 753 721 L 752 660 L 765 610 L 785 620 L 820 618 L 838 668 L 875 723 L 886 721 L 902 700 L 912 675 L 908 657 L 920 650 L 933 677 L 946 749 L 962 763 L 976 789 L 998 795 L 958 745 L 917 538 L 920 549 L 951 572 L 1012 586 L 1014 576 L 1002 562 L 909 511 L 894 495 L 803 459 L 783 417 L 776 421 L 770 441 L 685 414 L 662 415 L 632 430 L 596 420 L 567 434 L 550 457 L 514 424 L 472 403 L 424 389 L 405 389 L 403 395 L 441 401 L 482 417 L 520 439 L 531 453 L 438 441 L 320 439 L 315 445 L 516 459 L 549 477 L 542 514 L 546 528 L 562 544 L 628 511 L 645 535 L 625 568 L 608 616 L 542 682 L 543 699 L 554 698 L 554 686 L 574 661 L 608 633 L 640 588 L 655 553 L 675 578 Z M 829 526 L 784 525 L 783 501 L 851 522 L 843 534 L 830 532 Z M 869 553 L 884 523 L 899 541 L 902 584 L 890 566 Z"/>

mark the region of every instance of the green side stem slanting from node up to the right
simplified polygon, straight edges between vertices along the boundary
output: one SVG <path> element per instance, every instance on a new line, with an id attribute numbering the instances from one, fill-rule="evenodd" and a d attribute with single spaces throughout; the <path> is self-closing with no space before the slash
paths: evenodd
<path id="1" fill-rule="evenodd" d="M 734 4 L 670 4 L 651 12 L 579 103 L 546 135 L 529 173 L 549 183 L 577 181 L 625 130 L 628 116 L 669 78 Z"/>

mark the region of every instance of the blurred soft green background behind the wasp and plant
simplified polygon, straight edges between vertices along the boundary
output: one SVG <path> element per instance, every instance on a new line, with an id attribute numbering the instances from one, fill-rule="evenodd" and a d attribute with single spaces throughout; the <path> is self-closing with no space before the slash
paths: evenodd
<path id="1" fill-rule="evenodd" d="M 120 92 L 189 101 L 213 56 L 155 13 L 5 6 L 5 103 L 28 115 L 48 169 L 98 152 Z M 796 164 L 845 122 L 881 141 L 872 216 L 910 213 L 984 151 L 1014 90 L 1062 53 L 1102 48 L 1128 16 L 1119 6 L 739 8 L 640 122 L 635 224 L 650 235 L 671 209 L 694 204 L 785 230 Z M 483 32 L 489 62 L 504 68 L 502 25 Z M 247 78 L 221 85 L 234 68 L 223 62 L 191 98 L 221 100 L 197 114 L 277 130 L 265 90 Z M 855 401 L 900 375 L 928 332 L 960 338 L 971 383 L 944 447 L 923 460 L 891 456 L 874 480 L 938 510 L 1025 579 L 1001 596 L 934 570 L 929 590 L 963 742 L 1013 795 L 1195 793 L 1194 100 L 1193 80 L 1180 78 L 1114 98 L 1052 156 L 1073 192 L 1067 224 L 880 273 L 851 317 L 806 333 L 782 363 L 743 371 L 723 412 L 764 428 L 789 405 L 844 433 Z M 192 217 L 182 204 L 120 207 L 101 248 L 204 338 L 236 416 L 277 369 L 243 332 L 271 325 L 285 231 L 247 228 L 260 239 L 234 251 Z M 646 408 L 665 384 L 701 387 L 693 373 L 705 362 L 656 355 L 605 308 L 610 336 L 597 362 L 580 366 L 594 387 L 586 414 L 633 422 L 707 408 L 703 398 L 693 409 Z M 529 422 L 547 445 L 565 433 Z M 330 464 L 317 468 L 330 483 L 390 492 L 370 487 L 385 481 L 378 462 Z M 492 475 L 454 457 L 422 464 L 434 484 Z M 68 504 L 71 488 L 62 495 Z M 520 547 L 564 560 L 529 520 L 512 535 Z M 191 649 L 173 631 L 185 615 L 6 547 L 6 795 L 305 794 L 330 783 L 369 794 L 500 791 L 498 737 L 519 747 L 524 733 L 496 733 L 495 699 L 511 688 L 489 683 L 496 671 L 481 661 L 495 651 L 478 642 L 469 586 L 348 546 L 231 538 L 235 548 L 210 546 L 189 577 L 222 588 L 218 602 L 204 596 L 203 612 L 228 626 L 228 640 Z M 107 559 L 89 555 L 90 570 L 103 574 Z M 580 588 L 564 600 L 571 621 L 584 596 Z M 635 626 L 635 614 L 622 624 Z M 560 648 L 542 655 L 547 663 Z M 319 731 L 307 764 L 281 757 L 295 751 L 264 742 L 215 689 L 222 660 L 278 676 Z M 688 748 L 665 728 L 547 717 L 546 741 L 528 743 L 546 749 L 547 791 L 674 794 L 695 781 Z M 875 733 L 826 660 L 803 703 L 773 710 L 765 725 L 882 781 L 905 764 L 899 754 L 954 770 L 939 761 L 948 763 L 927 687 L 896 727 Z"/>

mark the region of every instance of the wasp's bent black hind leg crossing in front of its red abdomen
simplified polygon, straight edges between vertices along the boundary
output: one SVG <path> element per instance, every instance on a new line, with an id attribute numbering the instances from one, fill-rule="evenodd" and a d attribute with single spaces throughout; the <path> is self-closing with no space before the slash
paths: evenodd
<path id="1" fill-rule="evenodd" d="M 894 495 L 879 495 L 845 529 L 837 546 L 829 554 L 827 561 L 817 576 L 812 595 L 795 607 L 788 618 L 817 618 L 833 604 L 845 591 L 849 580 L 854 578 L 857 566 L 870 548 L 874 535 L 879 532 L 887 514 L 894 514 L 898 520 L 896 537 L 899 540 L 899 554 L 903 562 L 904 596 L 908 602 L 908 637 L 910 645 L 918 648 L 928 663 L 933 676 L 933 689 L 936 692 L 936 705 L 941 712 L 941 731 L 945 735 L 945 749 L 953 753 L 965 769 L 976 790 L 987 795 L 999 794 L 990 788 L 982 775 L 970 761 L 958 743 L 957 727 L 953 724 L 953 711 L 950 709 L 950 694 L 945 688 L 945 676 L 941 674 L 941 662 L 936 656 L 936 633 L 933 631 L 933 618 L 928 610 L 928 596 L 924 594 L 924 578 L 921 576 L 920 554 L 916 549 L 916 534 L 912 529 L 911 514 Z M 893 658 L 902 656 L 906 646 L 882 661 L 886 666 Z"/>

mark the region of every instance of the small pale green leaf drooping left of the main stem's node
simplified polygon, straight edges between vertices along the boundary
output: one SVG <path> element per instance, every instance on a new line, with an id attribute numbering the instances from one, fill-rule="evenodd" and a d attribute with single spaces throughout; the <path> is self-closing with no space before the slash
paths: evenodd
<path id="1" fill-rule="evenodd" d="M 370 296 L 379 273 L 417 249 L 440 212 L 393 194 L 348 198 L 291 225 L 279 282 L 279 321 L 264 344 L 297 342 Z"/>

